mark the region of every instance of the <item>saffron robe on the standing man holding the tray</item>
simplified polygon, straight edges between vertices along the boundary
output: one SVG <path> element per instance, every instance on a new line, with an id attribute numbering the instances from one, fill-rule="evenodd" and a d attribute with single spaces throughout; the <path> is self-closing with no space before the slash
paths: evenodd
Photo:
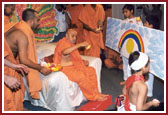
<path id="1" fill-rule="evenodd" d="M 22 31 L 28 38 L 28 58 L 33 61 L 34 63 L 37 63 L 37 53 L 36 53 L 36 43 L 34 39 L 34 33 L 30 26 L 24 22 L 19 22 L 15 28 Z M 29 85 L 29 92 L 32 98 L 34 99 L 40 99 L 39 91 L 41 90 L 41 80 L 39 72 L 35 69 L 31 69 L 27 76 L 28 85 Z"/>

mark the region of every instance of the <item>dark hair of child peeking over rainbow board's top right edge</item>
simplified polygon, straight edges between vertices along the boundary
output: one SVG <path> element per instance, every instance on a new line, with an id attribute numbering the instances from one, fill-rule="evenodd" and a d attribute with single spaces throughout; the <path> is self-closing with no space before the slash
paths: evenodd
<path id="1" fill-rule="evenodd" d="M 146 16 L 146 21 L 148 21 L 149 24 L 152 24 L 154 29 L 160 28 L 159 19 L 157 16 L 148 15 Z"/>

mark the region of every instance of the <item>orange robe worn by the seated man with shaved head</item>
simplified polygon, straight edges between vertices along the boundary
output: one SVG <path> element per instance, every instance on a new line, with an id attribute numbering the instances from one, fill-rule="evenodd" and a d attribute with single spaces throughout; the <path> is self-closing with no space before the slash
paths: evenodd
<path id="1" fill-rule="evenodd" d="M 72 46 L 74 44 L 70 43 L 66 38 L 61 39 L 55 48 L 53 62 L 61 64 L 63 51 Z M 69 80 L 79 85 L 83 95 L 88 100 L 96 100 L 100 96 L 100 93 L 98 92 L 95 69 L 85 66 L 78 50 L 70 53 L 70 59 L 73 64 L 71 66 L 64 66 L 61 71 L 68 76 Z"/>

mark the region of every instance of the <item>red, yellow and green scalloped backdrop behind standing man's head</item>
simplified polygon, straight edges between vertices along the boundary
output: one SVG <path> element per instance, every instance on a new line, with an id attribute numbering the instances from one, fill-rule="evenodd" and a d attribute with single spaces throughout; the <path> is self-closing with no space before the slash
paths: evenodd
<path id="1" fill-rule="evenodd" d="M 40 29 L 35 32 L 37 42 L 51 42 L 54 34 L 58 34 L 55 20 L 56 11 L 53 4 L 16 4 L 16 10 L 11 17 L 11 22 L 22 20 L 22 12 L 26 8 L 36 10 L 40 16 Z"/>

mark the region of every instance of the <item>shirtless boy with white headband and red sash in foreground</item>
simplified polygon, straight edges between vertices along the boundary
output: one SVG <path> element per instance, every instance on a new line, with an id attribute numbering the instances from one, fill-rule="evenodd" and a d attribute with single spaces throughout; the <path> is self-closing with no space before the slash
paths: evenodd
<path id="1" fill-rule="evenodd" d="M 151 106 L 159 106 L 160 101 L 153 99 L 146 102 L 148 87 L 145 84 L 144 74 L 149 72 L 150 59 L 142 53 L 135 51 L 129 56 L 129 65 L 132 76 L 130 76 L 123 89 L 126 95 L 125 104 L 118 108 L 118 111 L 142 111 Z"/>

